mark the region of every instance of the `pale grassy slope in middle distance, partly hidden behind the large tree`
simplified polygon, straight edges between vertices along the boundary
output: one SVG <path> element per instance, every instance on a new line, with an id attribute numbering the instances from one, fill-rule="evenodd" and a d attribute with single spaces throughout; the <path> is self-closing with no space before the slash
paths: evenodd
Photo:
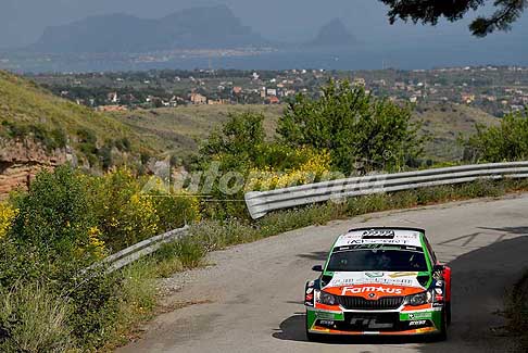
<path id="1" fill-rule="evenodd" d="M 227 119 L 228 113 L 262 112 L 267 135 L 272 137 L 284 105 L 189 105 L 175 109 L 138 110 L 113 116 L 148 140 L 151 146 L 185 157 L 197 151 L 198 142 Z M 423 121 L 420 134 L 429 136 L 426 157 L 435 161 L 460 159 L 458 136 L 475 133 L 475 124 L 499 124 L 499 119 L 481 110 L 444 103 L 418 106 L 414 119 Z"/>

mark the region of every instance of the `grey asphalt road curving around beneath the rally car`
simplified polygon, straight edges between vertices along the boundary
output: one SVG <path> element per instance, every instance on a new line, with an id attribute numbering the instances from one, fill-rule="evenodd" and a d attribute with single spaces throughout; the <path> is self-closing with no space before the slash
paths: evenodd
<path id="1" fill-rule="evenodd" d="M 304 282 L 334 239 L 355 226 L 427 229 L 453 268 L 453 323 L 447 342 L 369 338 L 307 342 Z M 501 336 L 504 289 L 528 266 L 528 196 L 370 214 L 282 234 L 210 254 L 214 264 L 167 280 L 167 304 L 120 352 L 506 352 Z M 194 303 L 194 304 L 192 304 Z"/>

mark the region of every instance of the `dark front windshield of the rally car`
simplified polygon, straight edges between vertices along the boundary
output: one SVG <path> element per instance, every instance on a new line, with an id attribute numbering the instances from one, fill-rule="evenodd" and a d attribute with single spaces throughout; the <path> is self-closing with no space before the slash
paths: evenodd
<path id="1" fill-rule="evenodd" d="M 334 252 L 326 270 L 423 272 L 427 263 L 420 250 L 353 249 Z"/>

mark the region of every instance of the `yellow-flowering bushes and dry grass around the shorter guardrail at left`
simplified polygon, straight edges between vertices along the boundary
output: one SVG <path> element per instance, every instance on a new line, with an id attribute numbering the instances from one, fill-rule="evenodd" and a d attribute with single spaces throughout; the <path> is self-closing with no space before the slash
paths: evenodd
<path id="1" fill-rule="evenodd" d="M 141 186 L 128 169 L 98 177 L 63 166 L 40 173 L 27 192 L 0 206 L 0 351 L 102 348 L 153 307 L 150 269 L 85 272 L 198 219 L 194 198 L 161 201 L 142 196 Z"/>

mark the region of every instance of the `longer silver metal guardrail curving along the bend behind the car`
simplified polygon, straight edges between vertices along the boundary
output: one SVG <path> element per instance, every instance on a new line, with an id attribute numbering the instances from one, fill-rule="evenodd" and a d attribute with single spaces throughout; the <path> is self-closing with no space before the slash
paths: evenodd
<path id="1" fill-rule="evenodd" d="M 381 192 L 491 178 L 528 178 L 528 162 L 489 163 L 395 174 L 377 174 L 246 193 L 253 219 L 271 211 Z"/>

